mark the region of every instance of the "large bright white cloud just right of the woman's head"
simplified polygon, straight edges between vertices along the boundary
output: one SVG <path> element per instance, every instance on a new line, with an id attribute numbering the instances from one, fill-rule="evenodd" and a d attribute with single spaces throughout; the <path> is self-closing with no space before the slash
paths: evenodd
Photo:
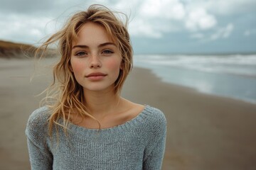
<path id="1" fill-rule="evenodd" d="M 124 1 L 119 1 L 125 4 Z M 130 33 L 134 36 L 161 38 L 165 33 L 182 30 L 198 31 L 214 28 L 218 21 L 200 6 L 189 7 L 179 0 L 132 1 L 136 6 L 136 15 L 130 24 Z M 124 7 L 125 8 L 125 7 Z"/>

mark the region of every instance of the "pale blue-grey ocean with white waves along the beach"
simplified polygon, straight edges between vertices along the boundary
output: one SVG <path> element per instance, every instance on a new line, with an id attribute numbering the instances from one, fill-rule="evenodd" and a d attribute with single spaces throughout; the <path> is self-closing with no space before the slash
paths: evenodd
<path id="1" fill-rule="evenodd" d="M 134 67 L 204 94 L 256 103 L 256 54 L 134 55 Z"/>

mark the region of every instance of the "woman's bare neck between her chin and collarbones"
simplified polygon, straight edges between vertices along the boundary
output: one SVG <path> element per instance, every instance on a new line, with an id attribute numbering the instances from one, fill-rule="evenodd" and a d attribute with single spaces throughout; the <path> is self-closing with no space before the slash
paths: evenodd
<path id="1" fill-rule="evenodd" d="M 118 94 L 114 94 L 113 90 L 103 92 L 84 90 L 84 97 L 88 113 L 95 118 L 112 113 L 121 101 L 121 97 Z"/>

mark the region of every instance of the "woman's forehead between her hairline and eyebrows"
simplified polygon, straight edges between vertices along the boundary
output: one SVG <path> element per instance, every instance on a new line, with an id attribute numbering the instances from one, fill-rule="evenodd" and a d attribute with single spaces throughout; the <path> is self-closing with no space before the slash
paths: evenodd
<path id="1" fill-rule="evenodd" d="M 73 45 L 97 45 L 105 42 L 116 44 L 116 40 L 107 33 L 103 26 L 98 23 L 88 22 L 84 23 L 78 30 L 78 38 L 73 42 Z"/>

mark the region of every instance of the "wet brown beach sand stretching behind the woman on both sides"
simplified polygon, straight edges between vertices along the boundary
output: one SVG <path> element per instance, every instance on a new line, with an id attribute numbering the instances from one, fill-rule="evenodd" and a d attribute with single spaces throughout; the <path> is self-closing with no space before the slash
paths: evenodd
<path id="1" fill-rule="evenodd" d="M 30 169 L 26 136 L 48 72 L 30 82 L 32 60 L 0 60 L 0 169 Z M 42 74 L 38 76 L 38 74 Z M 256 169 L 256 105 L 166 84 L 134 68 L 122 96 L 159 108 L 168 123 L 164 170 Z"/>

